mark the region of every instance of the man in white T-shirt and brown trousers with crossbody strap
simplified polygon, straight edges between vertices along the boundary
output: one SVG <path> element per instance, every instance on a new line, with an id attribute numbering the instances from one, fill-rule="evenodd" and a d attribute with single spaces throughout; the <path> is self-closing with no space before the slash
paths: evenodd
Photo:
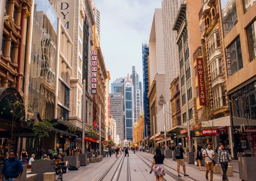
<path id="1" fill-rule="evenodd" d="M 211 144 L 206 145 L 206 149 L 203 150 L 203 157 L 204 157 L 204 164 L 206 164 L 206 180 L 208 180 L 208 173 L 210 173 L 210 180 L 213 180 L 213 167 L 214 162 L 213 159 L 215 158 L 214 151 L 211 149 Z"/>

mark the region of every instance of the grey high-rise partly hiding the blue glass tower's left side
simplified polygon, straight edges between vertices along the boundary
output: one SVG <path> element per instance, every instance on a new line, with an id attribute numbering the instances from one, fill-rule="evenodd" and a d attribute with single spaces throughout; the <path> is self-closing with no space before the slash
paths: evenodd
<path id="1" fill-rule="evenodd" d="M 110 115 L 116 120 L 116 134 L 124 140 L 124 97 L 122 93 L 110 93 Z"/>

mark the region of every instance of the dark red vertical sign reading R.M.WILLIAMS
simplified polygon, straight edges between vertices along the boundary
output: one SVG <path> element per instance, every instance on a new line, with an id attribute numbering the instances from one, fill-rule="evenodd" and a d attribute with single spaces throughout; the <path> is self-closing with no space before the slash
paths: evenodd
<path id="1" fill-rule="evenodd" d="M 203 58 L 196 58 L 199 105 L 206 106 Z"/>

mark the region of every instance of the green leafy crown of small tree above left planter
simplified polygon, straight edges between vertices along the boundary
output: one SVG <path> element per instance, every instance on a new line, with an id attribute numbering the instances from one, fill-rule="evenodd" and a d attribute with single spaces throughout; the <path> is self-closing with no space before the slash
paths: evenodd
<path id="1" fill-rule="evenodd" d="M 49 132 L 56 126 L 58 123 L 52 122 L 50 119 L 43 119 L 42 121 L 38 121 L 35 123 L 29 122 L 28 125 L 30 126 L 33 124 L 33 132 L 38 138 L 49 137 Z"/>

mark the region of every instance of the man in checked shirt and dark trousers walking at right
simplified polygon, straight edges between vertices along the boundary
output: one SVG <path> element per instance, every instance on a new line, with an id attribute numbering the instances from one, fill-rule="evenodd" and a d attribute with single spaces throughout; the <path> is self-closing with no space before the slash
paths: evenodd
<path id="1" fill-rule="evenodd" d="M 223 171 L 223 176 L 222 176 L 223 181 L 229 181 L 227 179 L 227 166 L 229 162 L 230 164 L 232 163 L 231 156 L 229 152 L 225 150 L 224 145 L 221 145 L 221 151 L 218 152 L 217 164 L 218 164 L 218 167 L 221 166 L 221 169 Z"/>

